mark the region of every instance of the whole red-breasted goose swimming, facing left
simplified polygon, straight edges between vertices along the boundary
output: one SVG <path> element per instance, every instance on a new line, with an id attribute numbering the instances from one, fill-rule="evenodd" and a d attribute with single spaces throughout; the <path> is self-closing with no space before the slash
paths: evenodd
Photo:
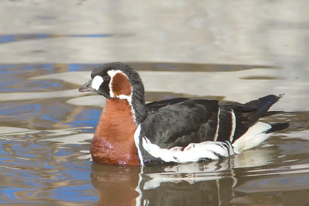
<path id="1" fill-rule="evenodd" d="M 106 97 L 91 143 L 94 162 L 153 165 L 216 160 L 257 146 L 288 122 L 266 124 L 261 117 L 281 96 L 245 104 L 173 98 L 145 103 L 145 90 L 132 67 L 113 62 L 95 68 L 80 92 Z"/>

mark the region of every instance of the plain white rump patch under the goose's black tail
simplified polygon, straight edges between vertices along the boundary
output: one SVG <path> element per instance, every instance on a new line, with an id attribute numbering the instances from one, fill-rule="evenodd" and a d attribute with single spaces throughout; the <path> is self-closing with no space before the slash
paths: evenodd
<path id="1" fill-rule="evenodd" d="M 264 122 L 256 122 L 245 134 L 235 140 L 233 143 L 235 153 L 240 153 L 242 150 L 256 147 L 268 139 L 271 135 L 273 135 L 273 133 L 265 134 L 265 132 L 270 128 L 271 126 L 269 124 Z"/>

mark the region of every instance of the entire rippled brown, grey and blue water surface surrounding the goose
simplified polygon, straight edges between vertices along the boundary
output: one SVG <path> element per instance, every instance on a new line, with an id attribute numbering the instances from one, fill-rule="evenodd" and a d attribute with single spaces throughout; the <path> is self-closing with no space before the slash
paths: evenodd
<path id="1" fill-rule="evenodd" d="M 1 205 L 309 205 L 307 0 L 0 1 Z M 146 100 L 286 93 L 290 127 L 209 163 L 93 164 L 104 97 L 91 70 L 129 62 Z"/>

